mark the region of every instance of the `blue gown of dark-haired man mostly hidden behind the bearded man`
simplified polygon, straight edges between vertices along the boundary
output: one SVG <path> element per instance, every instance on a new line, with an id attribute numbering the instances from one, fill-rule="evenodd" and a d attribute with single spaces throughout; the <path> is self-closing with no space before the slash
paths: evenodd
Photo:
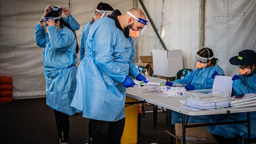
<path id="1" fill-rule="evenodd" d="M 91 20 L 85 24 L 85 26 L 83 27 L 82 30 L 82 34 L 81 34 L 81 44 L 80 44 L 80 60 L 82 61 L 83 57 L 84 57 L 84 52 L 85 52 L 85 45 L 86 45 L 86 40 L 91 28 Z"/>

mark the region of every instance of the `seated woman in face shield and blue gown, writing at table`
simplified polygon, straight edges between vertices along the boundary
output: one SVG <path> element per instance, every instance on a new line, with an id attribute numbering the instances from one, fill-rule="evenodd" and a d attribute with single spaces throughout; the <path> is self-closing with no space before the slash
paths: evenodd
<path id="1" fill-rule="evenodd" d="M 166 83 L 166 85 L 173 86 L 175 83 L 186 85 L 187 91 L 212 89 L 214 76 L 216 73 L 224 74 L 221 67 L 217 65 L 219 61 L 214 58 L 214 53 L 210 48 L 203 48 L 196 53 L 196 67 L 192 72 L 189 72 L 183 79 L 178 79 Z M 204 116 L 189 116 L 189 123 L 205 122 L 208 115 Z M 185 116 L 187 119 L 187 115 Z M 172 124 L 182 123 L 181 113 L 172 111 Z"/>

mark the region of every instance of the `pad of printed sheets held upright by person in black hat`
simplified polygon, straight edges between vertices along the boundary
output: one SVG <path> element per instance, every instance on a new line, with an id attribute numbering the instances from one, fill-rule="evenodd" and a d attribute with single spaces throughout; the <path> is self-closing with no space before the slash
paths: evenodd
<path id="1" fill-rule="evenodd" d="M 212 89 L 232 92 L 232 77 L 216 75 L 213 81 Z"/>

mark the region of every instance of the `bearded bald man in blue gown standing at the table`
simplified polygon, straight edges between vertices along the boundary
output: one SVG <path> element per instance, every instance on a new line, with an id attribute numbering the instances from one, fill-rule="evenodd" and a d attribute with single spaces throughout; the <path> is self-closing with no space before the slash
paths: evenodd
<path id="1" fill-rule="evenodd" d="M 136 43 L 148 23 L 146 16 L 138 8 L 115 13 L 118 16 L 108 15 L 91 26 L 71 104 L 91 118 L 93 144 L 121 143 L 126 88 L 135 85 L 128 75 L 147 83 L 132 63 L 132 37 Z"/>

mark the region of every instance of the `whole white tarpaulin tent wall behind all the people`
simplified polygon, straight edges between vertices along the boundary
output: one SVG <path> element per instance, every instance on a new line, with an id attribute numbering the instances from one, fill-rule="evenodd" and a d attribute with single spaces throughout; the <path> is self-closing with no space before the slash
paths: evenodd
<path id="1" fill-rule="evenodd" d="M 105 0 L 123 14 L 133 8 L 134 1 Z M 184 68 L 193 69 L 199 50 L 200 0 L 143 0 L 145 7 L 168 50 L 182 49 Z M 99 1 L 95 0 L 9 0 L 0 1 L 0 75 L 12 77 L 13 97 L 45 96 L 42 51 L 35 45 L 35 25 L 49 4 L 67 7 L 80 23 L 81 31 L 93 16 Z M 138 2 L 138 7 L 141 8 Z M 255 47 L 256 2 L 253 0 L 205 1 L 205 44 L 214 51 L 227 76 L 238 74 L 229 58 L 244 49 Z M 162 49 L 149 23 L 136 48 L 135 60 Z M 80 58 L 78 54 L 78 64 Z"/>

